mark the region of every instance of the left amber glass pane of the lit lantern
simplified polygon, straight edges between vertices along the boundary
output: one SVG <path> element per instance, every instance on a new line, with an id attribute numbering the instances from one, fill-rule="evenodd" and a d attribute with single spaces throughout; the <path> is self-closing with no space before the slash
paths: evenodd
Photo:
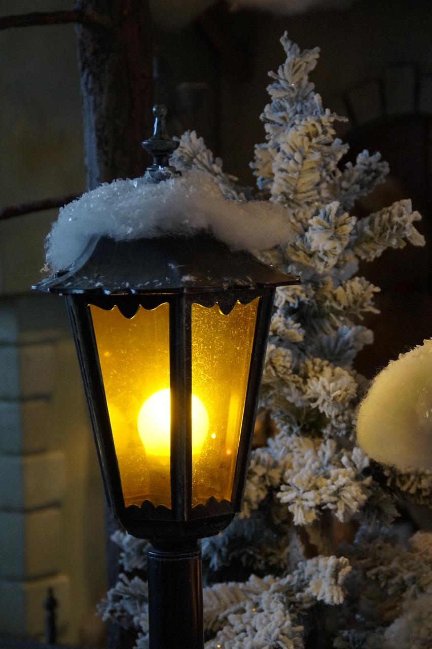
<path id="1" fill-rule="evenodd" d="M 91 304 L 90 311 L 125 505 L 151 500 L 171 508 L 169 305 L 139 306 L 132 318 L 117 306 Z"/>

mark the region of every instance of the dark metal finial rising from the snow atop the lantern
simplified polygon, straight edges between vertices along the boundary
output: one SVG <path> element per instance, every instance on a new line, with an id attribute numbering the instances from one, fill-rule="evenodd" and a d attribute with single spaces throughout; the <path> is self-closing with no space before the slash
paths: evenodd
<path id="1" fill-rule="evenodd" d="M 144 177 L 151 182 L 160 182 L 180 175 L 175 167 L 169 164 L 169 158 L 178 147 L 178 142 L 170 138 L 165 116 L 167 108 L 163 104 L 153 106 L 154 129 L 153 135 L 149 140 L 141 142 L 144 149 L 153 156 L 153 164 L 147 167 Z"/>

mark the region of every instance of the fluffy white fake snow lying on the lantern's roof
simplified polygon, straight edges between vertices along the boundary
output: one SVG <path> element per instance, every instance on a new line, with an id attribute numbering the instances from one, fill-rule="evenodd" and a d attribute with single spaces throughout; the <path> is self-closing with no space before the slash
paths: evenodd
<path id="1" fill-rule="evenodd" d="M 114 180 L 60 209 L 47 237 L 46 260 L 66 268 L 91 236 L 117 241 L 210 230 L 235 250 L 258 251 L 293 239 L 285 207 L 267 201 L 228 201 L 200 171 L 152 184 L 144 178 Z"/>

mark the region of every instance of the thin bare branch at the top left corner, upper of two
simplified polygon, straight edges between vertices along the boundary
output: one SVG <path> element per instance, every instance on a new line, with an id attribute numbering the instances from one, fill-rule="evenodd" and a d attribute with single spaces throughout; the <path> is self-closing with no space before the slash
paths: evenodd
<path id="1" fill-rule="evenodd" d="M 0 18 L 0 29 L 11 27 L 33 27 L 34 25 L 64 25 L 78 23 L 80 25 L 94 25 L 110 27 L 108 16 L 102 16 L 95 11 L 42 11 L 18 16 L 3 16 Z"/>

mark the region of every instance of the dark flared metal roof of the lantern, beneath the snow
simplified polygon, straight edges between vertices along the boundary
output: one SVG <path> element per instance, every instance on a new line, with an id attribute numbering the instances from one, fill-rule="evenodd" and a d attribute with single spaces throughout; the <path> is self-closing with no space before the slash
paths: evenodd
<path id="1" fill-rule="evenodd" d="M 66 270 L 32 288 L 101 295 L 216 291 L 299 284 L 294 275 L 232 251 L 207 232 L 115 241 L 93 238 Z"/>

